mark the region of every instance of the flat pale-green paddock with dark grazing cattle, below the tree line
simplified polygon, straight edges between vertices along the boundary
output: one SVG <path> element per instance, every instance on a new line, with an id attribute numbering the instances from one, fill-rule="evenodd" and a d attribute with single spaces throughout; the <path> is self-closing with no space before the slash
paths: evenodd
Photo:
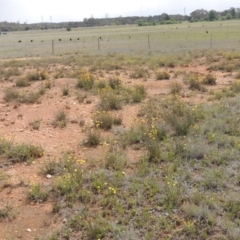
<path id="1" fill-rule="evenodd" d="M 208 33 L 207 33 L 208 32 Z M 149 35 L 149 44 L 148 44 Z M 98 50 L 98 38 L 100 51 Z M 79 40 L 77 40 L 79 38 Z M 59 39 L 62 41 L 59 42 Z M 72 39 L 72 41 L 70 41 Z M 212 40 L 211 40 L 212 39 Z M 19 41 L 21 40 L 21 43 Z M 31 42 L 33 40 L 33 42 Z M 179 53 L 206 49 L 239 49 L 239 21 L 183 22 L 149 27 L 97 28 L 12 32 L 0 37 L 0 58 L 51 56 L 54 54 Z"/>

